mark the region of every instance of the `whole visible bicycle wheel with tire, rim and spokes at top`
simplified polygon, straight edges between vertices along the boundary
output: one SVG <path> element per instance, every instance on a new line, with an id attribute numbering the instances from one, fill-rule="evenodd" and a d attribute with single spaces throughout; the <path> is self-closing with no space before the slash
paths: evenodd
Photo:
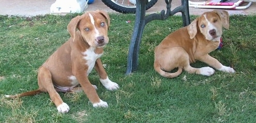
<path id="1" fill-rule="evenodd" d="M 135 13 L 136 0 L 101 0 L 109 8 L 120 13 Z M 158 0 L 148 0 L 146 10 L 156 4 Z"/>

